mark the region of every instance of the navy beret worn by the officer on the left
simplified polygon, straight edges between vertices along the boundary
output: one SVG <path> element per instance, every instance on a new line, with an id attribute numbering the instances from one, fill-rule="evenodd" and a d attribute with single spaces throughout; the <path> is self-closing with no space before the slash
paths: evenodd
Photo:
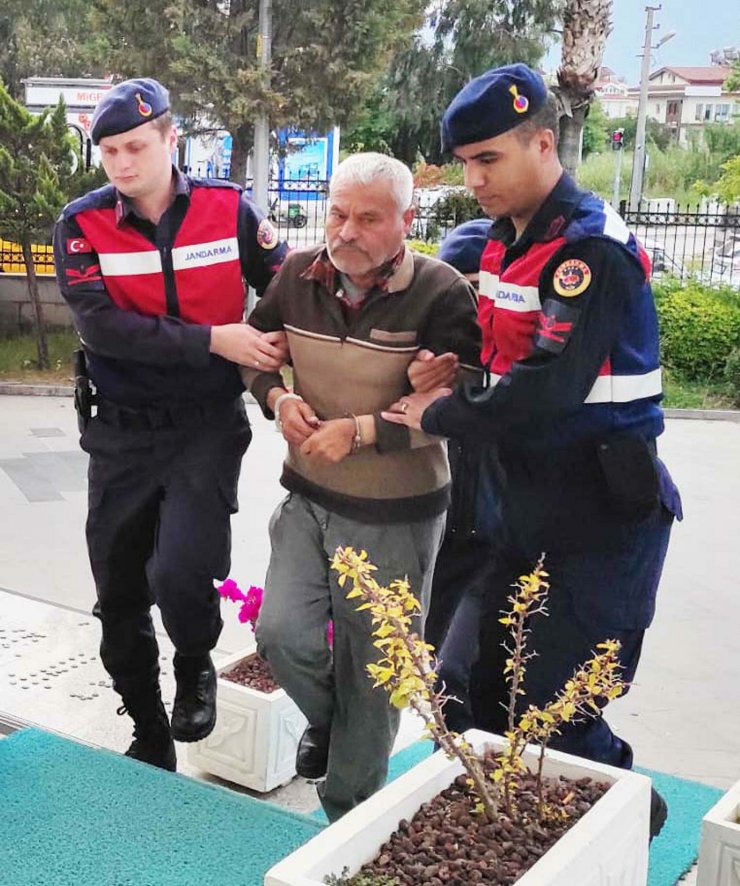
<path id="1" fill-rule="evenodd" d="M 170 94 L 161 83 L 148 77 L 124 80 L 106 92 L 95 108 L 90 127 L 93 144 L 156 120 L 169 109 Z"/>

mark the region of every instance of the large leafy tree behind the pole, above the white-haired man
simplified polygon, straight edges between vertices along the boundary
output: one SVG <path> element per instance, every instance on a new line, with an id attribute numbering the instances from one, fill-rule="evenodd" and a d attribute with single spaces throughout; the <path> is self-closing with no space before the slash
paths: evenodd
<path id="1" fill-rule="evenodd" d="M 95 20 L 116 75 L 160 79 L 189 131 L 231 133 L 231 177 L 243 182 L 259 114 L 273 128 L 345 124 L 422 7 L 423 0 L 273 0 L 269 83 L 258 63 L 253 0 L 99 0 Z"/>

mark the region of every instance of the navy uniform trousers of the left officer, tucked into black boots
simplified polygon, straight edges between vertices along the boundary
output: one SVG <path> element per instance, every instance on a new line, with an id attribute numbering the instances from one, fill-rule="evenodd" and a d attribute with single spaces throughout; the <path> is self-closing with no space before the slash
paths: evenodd
<path id="1" fill-rule="evenodd" d="M 223 623 L 213 580 L 229 573 L 251 436 L 241 398 L 135 410 L 104 401 L 82 434 L 93 613 L 101 659 L 124 699 L 158 680 L 152 603 L 181 655 L 216 645 Z"/>

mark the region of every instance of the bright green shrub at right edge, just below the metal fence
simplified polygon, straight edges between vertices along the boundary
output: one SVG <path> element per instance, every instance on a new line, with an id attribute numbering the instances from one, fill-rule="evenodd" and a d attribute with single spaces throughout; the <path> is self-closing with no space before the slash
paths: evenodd
<path id="1" fill-rule="evenodd" d="M 687 379 L 720 378 L 740 347 L 740 304 L 699 283 L 655 287 L 663 362 Z"/>

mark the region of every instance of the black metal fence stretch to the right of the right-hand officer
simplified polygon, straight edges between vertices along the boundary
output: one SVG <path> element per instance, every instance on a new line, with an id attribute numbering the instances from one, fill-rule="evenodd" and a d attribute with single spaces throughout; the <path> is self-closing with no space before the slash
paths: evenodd
<path id="1" fill-rule="evenodd" d="M 740 288 L 737 209 L 655 201 L 638 212 L 622 204 L 620 214 L 650 255 L 654 277 L 670 274 L 682 280 Z"/>

